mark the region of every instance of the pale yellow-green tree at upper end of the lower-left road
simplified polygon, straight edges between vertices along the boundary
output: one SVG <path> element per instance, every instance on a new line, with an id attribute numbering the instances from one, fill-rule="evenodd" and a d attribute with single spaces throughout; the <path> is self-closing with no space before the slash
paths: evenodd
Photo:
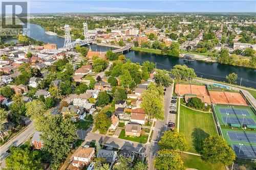
<path id="1" fill-rule="evenodd" d="M 45 105 L 39 100 L 33 100 L 32 102 L 26 103 L 26 116 L 29 116 L 34 122 L 35 127 L 38 131 L 41 131 L 44 124 Z"/>

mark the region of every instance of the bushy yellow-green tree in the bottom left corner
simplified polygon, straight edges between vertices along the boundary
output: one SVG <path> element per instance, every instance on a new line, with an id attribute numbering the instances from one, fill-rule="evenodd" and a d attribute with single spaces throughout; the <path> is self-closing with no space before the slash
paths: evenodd
<path id="1" fill-rule="evenodd" d="M 10 169 L 42 169 L 42 164 L 38 160 L 37 151 L 29 151 L 28 148 L 10 148 L 11 154 L 6 158 L 6 168 Z"/>

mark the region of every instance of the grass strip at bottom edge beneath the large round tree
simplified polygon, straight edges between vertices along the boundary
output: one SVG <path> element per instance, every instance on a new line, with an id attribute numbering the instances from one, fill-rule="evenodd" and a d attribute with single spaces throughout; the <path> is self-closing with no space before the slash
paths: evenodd
<path id="1" fill-rule="evenodd" d="M 200 156 L 181 154 L 181 159 L 184 162 L 186 168 L 196 168 L 198 170 L 225 170 L 225 166 L 222 163 L 212 164 L 202 160 Z"/>

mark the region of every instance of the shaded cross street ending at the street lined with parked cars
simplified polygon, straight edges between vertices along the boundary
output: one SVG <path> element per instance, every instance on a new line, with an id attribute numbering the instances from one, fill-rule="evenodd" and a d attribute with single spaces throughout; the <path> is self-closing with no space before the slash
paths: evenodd
<path id="1" fill-rule="evenodd" d="M 129 140 L 124 140 L 120 138 L 114 138 L 111 136 L 105 136 L 101 134 L 96 134 L 93 132 L 88 132 L 88 131 L 77 131 L 78 138 L 83 139 L 84 144 L 90 144 L 90 142 L 96 142 L 98 141 L 100 144 L 104 144 L 108 147 L 112 148 L 118 148 L 118 149 L 129 149 L 132 152 L 136 153 L 143 153 L 145 149 L 145 144 L 143 143 L 137 143 Z"/>

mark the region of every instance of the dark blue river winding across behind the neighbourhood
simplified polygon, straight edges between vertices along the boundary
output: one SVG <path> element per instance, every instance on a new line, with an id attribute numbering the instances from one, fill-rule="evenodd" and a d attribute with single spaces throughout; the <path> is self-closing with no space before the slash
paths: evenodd
<path id="1" fill-rule="evenodd" d="M 30 37 L 44 42 L 56 43 L 58 47 L 62 47 L 64 44 L 64 38 L 58 36 L 50 36 L 45 34 L 45 29 L 39 25 L 30 24 Z M 82 31 L 82 30 L 81 30 Z M 100 46 L 92 44 L 91 48 L 93 51 L 108 51 L 115 48 L 108 46 Z M 176 64 L 186 64 L 188 67 L 194 68 L 198 77 L 207 79 L 226 81 L 226 75 L 235 72 L 238 74 L 238 82 L 240 84 L 242 78 L 242 85 L 247 87 L 256 88 L 256 69 L 232 66 L 219 63 L 207 63 L 203 61 L 192 61 L 186 62 L 182 58 L 163 56 L 145 52 L 130 51 L 124 54 L 126 58 L 131 59 L 132 62 L 142 63 L 143 61 L 151 61 L 157 63 L 157 68 L 171 69 Z"/>

